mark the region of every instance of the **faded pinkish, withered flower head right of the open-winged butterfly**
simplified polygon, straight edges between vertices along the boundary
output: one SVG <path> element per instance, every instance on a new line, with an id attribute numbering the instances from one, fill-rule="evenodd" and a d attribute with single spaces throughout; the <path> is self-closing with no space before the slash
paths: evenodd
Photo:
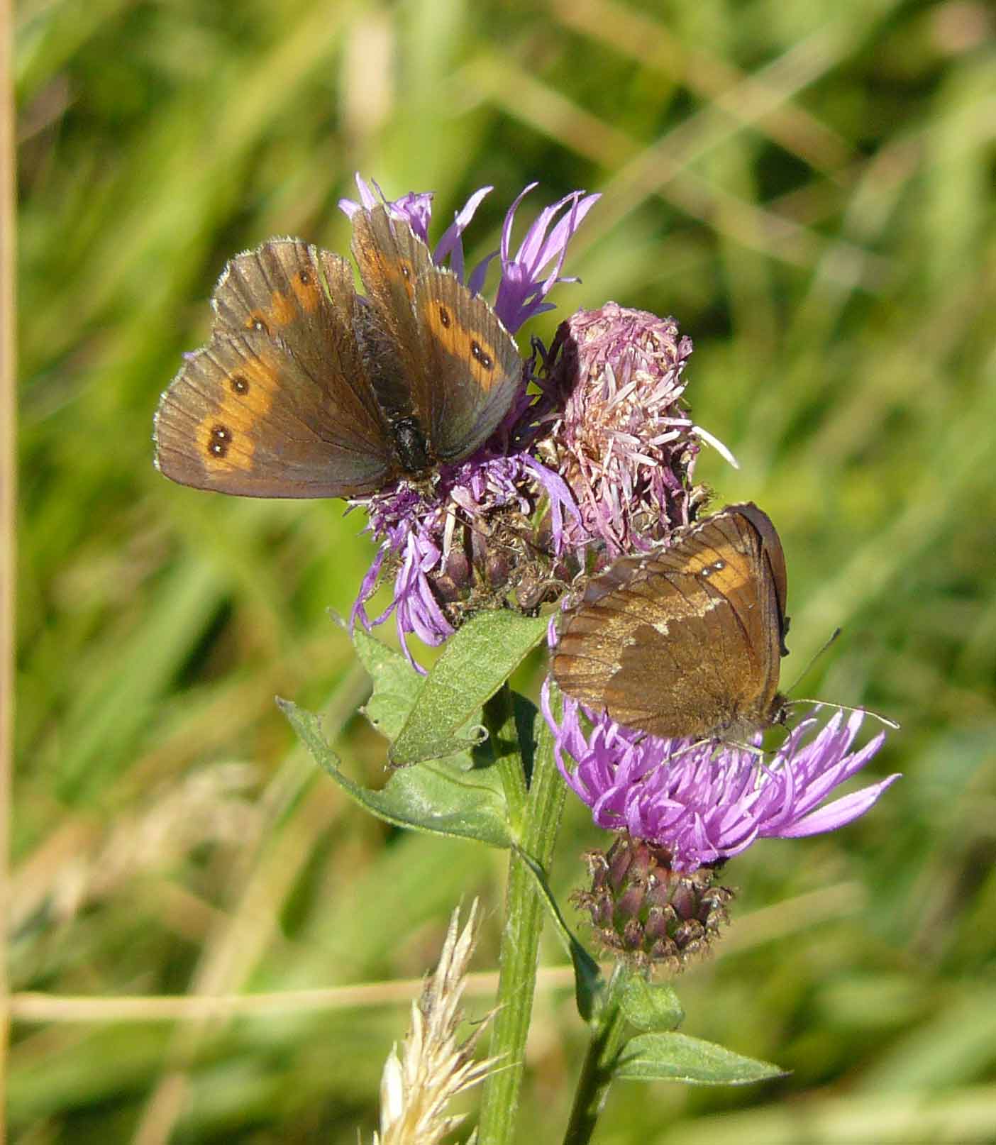
<path id="1" fill-rule="evenodd" d="M 688 413 L 690 354 L 691 339 L 673 318 L 616 302 L 561 324 L 547 355 L 551 412 L 537 452 L 577 499 L 569 545 L 595 540 L 603 562 L 649 551 L 691 520 L 699 443 L 733 461 Z"/>

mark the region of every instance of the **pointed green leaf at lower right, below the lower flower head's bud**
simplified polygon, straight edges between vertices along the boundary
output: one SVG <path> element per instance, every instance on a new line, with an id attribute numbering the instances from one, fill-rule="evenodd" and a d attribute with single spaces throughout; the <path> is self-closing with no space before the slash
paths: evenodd
<path id="1" fill-rule="evenodd" d="M 746 1085 L 783 1077 L 784 1069 L 744 1058 L 685 1034 L 638 1034 L 616 1060 L 612 1076 L 629 1081 L 683 1081 L 691 1085 Z"/>

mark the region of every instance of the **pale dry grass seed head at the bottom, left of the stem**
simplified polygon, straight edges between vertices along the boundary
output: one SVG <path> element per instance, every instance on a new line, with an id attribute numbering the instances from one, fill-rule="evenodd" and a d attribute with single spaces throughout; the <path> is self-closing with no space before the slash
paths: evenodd
<path id="1" fill-rule="evenodd" d="M 445 1110 L 457 1093 L 483 1081 L 495 1058 L 474 1060 L 474 1045 L 487 1019 L 465 1041 L 457 1040 L 463 1020 L 460 1000 L 467 981 L 467 963 L 477 934 L 477 900 L 463 931 L 459 908 L 450 927 L 435 973 L 421 997 L 412 1003 L 411 1029 L 398 1057 L 394 1047 L 380 1080 L 380 1132 L 374 1145 L 429 1145 L 441 1140 L 463 1121 Z"/>

